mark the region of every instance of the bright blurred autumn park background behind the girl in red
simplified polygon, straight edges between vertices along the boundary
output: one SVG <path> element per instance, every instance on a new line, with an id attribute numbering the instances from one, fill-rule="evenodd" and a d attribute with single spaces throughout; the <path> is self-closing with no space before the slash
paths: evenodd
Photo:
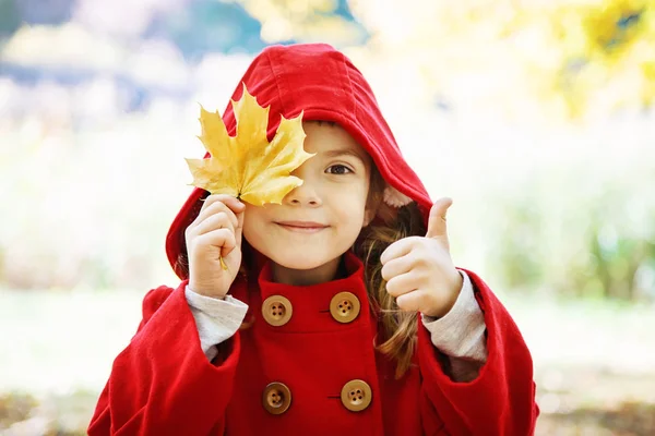
<path id="1" fill-rule="evenodd" d="M 655 0 L 0 0 L 0 433 L 84 434 L 270 44 L 358 65 L 458 266 L 533 353 L 539 435 L 655 434 Z"/>

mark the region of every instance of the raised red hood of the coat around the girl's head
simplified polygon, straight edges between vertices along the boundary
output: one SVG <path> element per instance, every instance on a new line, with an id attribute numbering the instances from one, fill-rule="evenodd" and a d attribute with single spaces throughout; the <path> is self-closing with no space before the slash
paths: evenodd
<path id="1" fill-rule="evenodd" d="M 427 219 L 432 203 L 425 186 L 405 162 L 369 84 L 344 55 L 325 44 L 272 46 L 254 58 L 241 82 L 260 106 L 271 106 L 269 140 L 275 135 L 279 116 L 289 119 L 305 111 L 303 120 L 338 123 L 371 155 L 386 182 L 421 206 Z M 241 82 L 233 100 L 241 98 Z M 231 105 L 223 119 L 234 135 Z M 184 229 L 198 216 L 204 193 L 201 189 L 191 193 L 166 238 L 168 259 L 181 278 L 186 277 L 177 259 L 186 250 Z"/>

